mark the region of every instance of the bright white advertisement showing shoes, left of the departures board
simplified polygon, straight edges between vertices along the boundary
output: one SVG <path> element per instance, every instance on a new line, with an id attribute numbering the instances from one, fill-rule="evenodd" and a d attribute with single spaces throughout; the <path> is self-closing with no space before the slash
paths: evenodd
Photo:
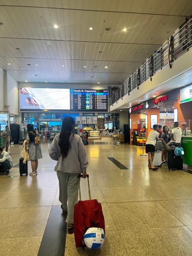
<path id="1" fill-rule="evenodd" d="M 20 88 L 20 111 L 70 110 L 70 89 Z"/>

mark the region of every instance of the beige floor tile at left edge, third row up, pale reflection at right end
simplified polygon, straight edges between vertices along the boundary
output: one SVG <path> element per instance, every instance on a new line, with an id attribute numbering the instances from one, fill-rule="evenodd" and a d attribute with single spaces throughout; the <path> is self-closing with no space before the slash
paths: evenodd
<path id="1" fill-rule="evenodd" d="M 35 190 L 21 193 L 12 192 L 1 204 L 0 208 L 52 206 L 57 190 Z"/>

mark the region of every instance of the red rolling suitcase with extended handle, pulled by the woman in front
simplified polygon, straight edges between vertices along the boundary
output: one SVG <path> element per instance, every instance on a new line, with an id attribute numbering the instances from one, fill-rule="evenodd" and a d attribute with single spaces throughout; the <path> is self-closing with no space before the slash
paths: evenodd
<path id="1" fill-rule="evenodd" d="M 83 240 L 83 235 L 88 230 L 88 228 L 102 228 L 105 232 L 105 220 L 102 212 L 101 204 L 96 200 L 91 200 L 90 185 L 89 185 L 89 175 L 87 174 L 89 200 L 81 200 L 81 190 L 80 190 L 80 178 L 82 175 L 78 176 L 79 182 L 79 199 L 80 201 L 74 206 L 74 237 L 76 247 L 85 247 Z"/>

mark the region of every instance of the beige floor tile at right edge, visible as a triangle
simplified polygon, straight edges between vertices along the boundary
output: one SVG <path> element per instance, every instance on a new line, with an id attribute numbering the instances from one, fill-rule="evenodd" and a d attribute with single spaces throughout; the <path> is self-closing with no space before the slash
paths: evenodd
<path id="1" fill-rule="evenodd" d="M 192 225 L 192 199 L 159 201 L 185 226 Z"/>

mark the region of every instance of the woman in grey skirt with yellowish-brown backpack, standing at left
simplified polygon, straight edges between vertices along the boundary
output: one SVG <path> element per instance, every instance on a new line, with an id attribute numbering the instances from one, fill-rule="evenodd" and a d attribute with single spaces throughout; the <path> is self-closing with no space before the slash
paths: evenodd
<path id="1" fill-rule="evenodd" d="M 31 160 L 32 172 L 29 175 L 37 175 L 38 159 L 42 158 L 42 152 L 40 147 L 40 138 L 38 132 L 34 130 L 32 124 L 27 125 L 26 144 L 29 144 L 29 157 Z"/>

